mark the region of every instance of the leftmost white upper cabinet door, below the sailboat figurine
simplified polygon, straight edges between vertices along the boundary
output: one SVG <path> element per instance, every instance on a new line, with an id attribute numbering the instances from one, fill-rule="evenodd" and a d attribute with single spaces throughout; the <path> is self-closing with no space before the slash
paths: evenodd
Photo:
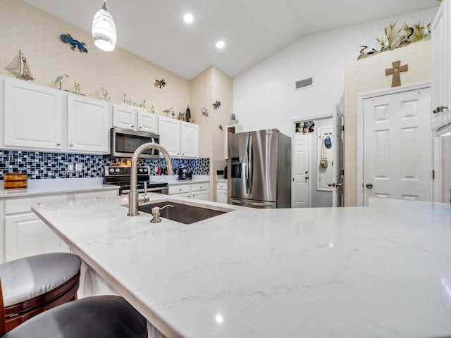
<path id="1" fill-rule="evenodd" d="M 8 78 L 4 86 L 4 146 L 61 150 L 63 92 Z"/>

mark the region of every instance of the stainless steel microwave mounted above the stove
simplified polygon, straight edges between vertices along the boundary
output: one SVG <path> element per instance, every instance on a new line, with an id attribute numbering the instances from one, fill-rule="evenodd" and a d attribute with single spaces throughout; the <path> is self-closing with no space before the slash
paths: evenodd
<path id="1" fill-rule="evenodd" d="M 135 150 L 144 143 L 159 143 L 159 134 L 135 132 L 123 128 L 111 128 L 111 156 L 131 158 Z M 159 151 L 148 149 L 140 158 L 159 158 Z"/>

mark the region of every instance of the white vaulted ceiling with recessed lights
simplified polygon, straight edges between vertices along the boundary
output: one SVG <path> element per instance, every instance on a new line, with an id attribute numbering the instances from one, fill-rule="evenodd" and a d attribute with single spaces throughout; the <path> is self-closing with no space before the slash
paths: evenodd
<path id="1" fill-rule="evenodd" d="M 91 31 L 102 0 L 25 0 Z M 438 6 L 436 0 L 108 0 L 117 45 L 190 80 L 210 65 L 231 77 L 302 35 Z M 187 25 L 183 15 L 194 22 Z M 216 49 L 216 41 L 226 46 Z"/>

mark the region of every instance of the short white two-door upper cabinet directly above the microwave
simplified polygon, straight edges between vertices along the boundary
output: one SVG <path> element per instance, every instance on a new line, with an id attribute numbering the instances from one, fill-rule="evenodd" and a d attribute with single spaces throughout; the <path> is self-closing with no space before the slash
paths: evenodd
<path id="1" fill-rule="evenodd" d="M 113 127 L 140 132 L 158 132 L 158 115 L 147 111 L 113 105 Z"/>

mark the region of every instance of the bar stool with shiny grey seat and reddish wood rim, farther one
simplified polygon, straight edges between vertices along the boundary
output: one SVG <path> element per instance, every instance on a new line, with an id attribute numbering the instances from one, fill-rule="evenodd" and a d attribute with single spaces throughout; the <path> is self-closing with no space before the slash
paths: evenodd
<path id="1" fill-rule="evenodd" d="M 44 253 L 0 264 L 6 332 L 33 316 L 77 299 L 81 260 Z"/>

